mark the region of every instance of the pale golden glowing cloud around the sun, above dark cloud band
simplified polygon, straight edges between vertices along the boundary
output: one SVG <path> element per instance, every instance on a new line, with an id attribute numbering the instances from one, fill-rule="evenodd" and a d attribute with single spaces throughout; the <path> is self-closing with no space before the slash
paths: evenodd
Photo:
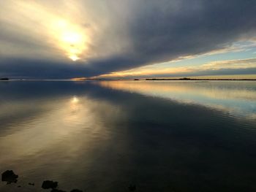
<path id="1" fill-rule="evenodd" d="M 124 53 L 131 46 L 127 26 L 112 25 L 118 18 L 102 2 L 3 0 L 0 7 L 1 57 L 82 64 Z"/>

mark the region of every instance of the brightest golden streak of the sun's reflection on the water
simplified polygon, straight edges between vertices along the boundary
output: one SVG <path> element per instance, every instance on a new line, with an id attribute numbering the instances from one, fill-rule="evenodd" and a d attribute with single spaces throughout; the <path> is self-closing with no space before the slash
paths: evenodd
<path id="1" fill-rule="evenodd" d="M 44 102 L 40 104 L 45 105 Z M 96 101 L 83 98 L 78 103 L 77 98 L 75 100 L 72 98 L 71 102 L 70 99 L 64 98 L 52 101 L 48 105 L 51 109 L 47 113 L 33 115 L 33 118 L 24 119 L 12 125 L 12 128 L 1 137 L 0 164 L 37 154 L 41 150 L 50 150 L 56 145 L 60 147 L 64 137 L 73 139 L 81 131 L 86 131 L 90 135 L 101 132 L 107 139 L 108 135 L 102 129 L 100 120 L 97 120 L 100 114 L 92 112 L 98 105 Z M 101 106 L 110 107 L 108 104 Z M 88 140 L 86 135 L 83 137 L 83 142 Z M 78 147 L 76 144 L 77 142 L 70 143 L 69 148 L 75 150 Z"/>

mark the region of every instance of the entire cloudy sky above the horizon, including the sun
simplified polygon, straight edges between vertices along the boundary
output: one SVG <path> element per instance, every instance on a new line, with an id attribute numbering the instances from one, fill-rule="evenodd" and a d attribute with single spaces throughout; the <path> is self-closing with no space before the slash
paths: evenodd
<path id="1" fill-rule="evenodd" d="M 256 1 L 1 0 L 0 77 L 256 78 Z"/>

